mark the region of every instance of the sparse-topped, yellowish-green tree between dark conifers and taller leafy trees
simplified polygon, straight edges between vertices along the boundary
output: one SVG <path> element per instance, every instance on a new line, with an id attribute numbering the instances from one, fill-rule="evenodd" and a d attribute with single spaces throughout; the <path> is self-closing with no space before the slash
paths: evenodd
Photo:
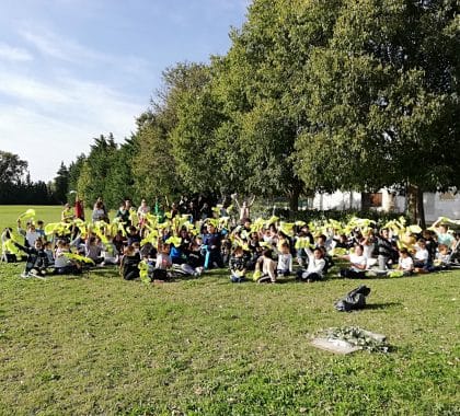
<path id="1" fill-rule="evenodd" d="M 199 63 L 177 63 L 163 72 L 151 108 L 137 120 L 140 151 L 134 172 L 143 196 L 177 195 L 184 188 L 205 190 L 199 177 L 216 172 L 202 163 L 209 149 L 209 142 L 203 143 L 203 124 L 209 124 L 210 118 L 197 117 L 208 80 L 208 69 Z M 207 167 L 205 172 L 203 167 Z"/>

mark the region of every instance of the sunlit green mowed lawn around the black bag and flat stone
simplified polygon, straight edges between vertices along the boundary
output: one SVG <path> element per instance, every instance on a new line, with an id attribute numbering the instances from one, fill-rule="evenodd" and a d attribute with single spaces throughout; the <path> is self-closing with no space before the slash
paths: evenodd
<path id="1" fill-rule="evenodd" d="M 0 207 L 2 228 L 27 207 Z M 56 221 L 59 208 L 37 208 Z M 0 265 L 0 414 L 456 415 L 459 271 L 232 285 L 225 270 L 146 286 L 115 268 L 21 279 Z M 386 334 L 390 354 L 313 348 L 331 326 Z"/>

